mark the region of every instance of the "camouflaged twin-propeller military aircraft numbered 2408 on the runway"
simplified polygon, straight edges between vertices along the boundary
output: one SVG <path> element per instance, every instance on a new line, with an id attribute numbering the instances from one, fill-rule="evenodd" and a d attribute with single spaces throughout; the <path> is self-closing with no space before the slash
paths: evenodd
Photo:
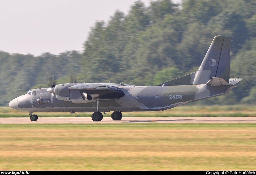
<path id="1" fill-rule="evenodd" d="M 93 112 L 92 120 L 101 121 L 101 112 L 114 111 L 113 120 L 121 120 L 120 111 L 160 111 L 185 103 L 228 94 L 241 78 L 229 78 L 230 38 L 216 36 L 197 72 L 158 84 L 136 86 L 114 83 L 65 83 L 29 90 L 9 103 L 20 111 Z"/>

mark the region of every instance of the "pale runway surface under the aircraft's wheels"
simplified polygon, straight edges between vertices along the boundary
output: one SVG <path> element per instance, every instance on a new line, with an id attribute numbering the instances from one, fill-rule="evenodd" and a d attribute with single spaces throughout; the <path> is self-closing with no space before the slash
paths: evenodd
<path id="1" fill-rule="evenodd" d="M 38 117 L 36 122 L 29 117 L 0 118 L 0 124 L 36 123 L 256 123 L 256 117 L 123 117 L 120 121 L 103 117 L 100 122 L 91 117 Z"/>

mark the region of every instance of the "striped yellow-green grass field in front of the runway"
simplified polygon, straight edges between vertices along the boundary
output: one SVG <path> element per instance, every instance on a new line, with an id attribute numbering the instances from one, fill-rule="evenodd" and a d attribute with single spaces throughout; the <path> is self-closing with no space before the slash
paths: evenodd
<path id="1" fill-rule="evenodd" d="M 0 124 L 0 170 L 255 170 L 256 124 Z"/>

